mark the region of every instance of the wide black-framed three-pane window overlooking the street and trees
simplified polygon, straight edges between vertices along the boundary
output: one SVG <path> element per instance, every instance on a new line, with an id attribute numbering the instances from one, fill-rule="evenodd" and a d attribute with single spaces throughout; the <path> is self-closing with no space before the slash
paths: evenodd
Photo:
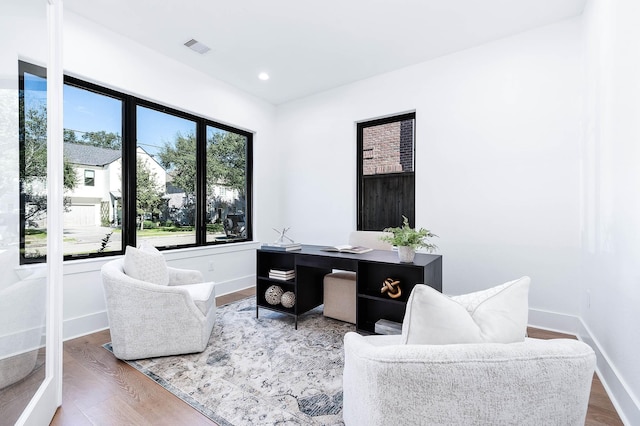
<path id="1" fill-rule="evenodd" d="M 45 75 L 20 62 L 22 263 L 46 255 Z M 250 240 L 251 145 L 249 132 L 65 77 L 65 259 Z"/>

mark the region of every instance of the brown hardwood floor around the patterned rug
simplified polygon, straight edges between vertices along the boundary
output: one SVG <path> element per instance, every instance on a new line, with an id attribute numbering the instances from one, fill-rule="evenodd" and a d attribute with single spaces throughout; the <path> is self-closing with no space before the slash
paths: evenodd
<path id="1" fill-rule="evenodd" d="M 254 289 L 221 296 L 222 305 L 254 294 Z M 529 329 L 531 337 L 569 337 Z M 63 397 L 55 426 L 214 425 L 185 402 L 102 348 L 102 331 L 64 343 Z M 600 380 L 594 376 L 587 425 L 622 425 Z"/>

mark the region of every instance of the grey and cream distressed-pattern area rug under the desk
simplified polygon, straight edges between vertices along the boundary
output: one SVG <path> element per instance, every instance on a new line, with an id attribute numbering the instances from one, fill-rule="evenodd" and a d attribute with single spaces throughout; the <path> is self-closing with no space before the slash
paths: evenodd
<path id="1" fill-rule="evenodd" d="M 220 425 L 342 425 L 343 337 L 355 326 L 260 309 L 255 298 L 218 308 L 199 354 L 128 363 Z M 107 349 L 111 349 L 108 344 Z"/>

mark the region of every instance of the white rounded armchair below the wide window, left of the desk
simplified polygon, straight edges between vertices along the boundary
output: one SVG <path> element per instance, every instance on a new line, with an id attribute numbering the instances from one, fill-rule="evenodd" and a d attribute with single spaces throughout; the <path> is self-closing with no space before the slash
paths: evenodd
<path id="1" fill-rule="evenodd" d="M 102 267 L 113 353 L 140 359 L 201 352 L 215 321 L 215 285 L 200 271 L 168 267 L 168 285 L 125 274 L 124 258 Z"/>

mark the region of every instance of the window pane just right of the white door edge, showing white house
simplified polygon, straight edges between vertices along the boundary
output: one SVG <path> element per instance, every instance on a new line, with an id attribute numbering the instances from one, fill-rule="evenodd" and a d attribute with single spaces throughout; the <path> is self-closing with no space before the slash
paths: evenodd
<path id="1" fill-rule="evenodd" d="M 124 99 L 69 79 L 63 96 L 65 165 L 73 179 L 65 192 L 64 254 L 120 253 Z"/>

